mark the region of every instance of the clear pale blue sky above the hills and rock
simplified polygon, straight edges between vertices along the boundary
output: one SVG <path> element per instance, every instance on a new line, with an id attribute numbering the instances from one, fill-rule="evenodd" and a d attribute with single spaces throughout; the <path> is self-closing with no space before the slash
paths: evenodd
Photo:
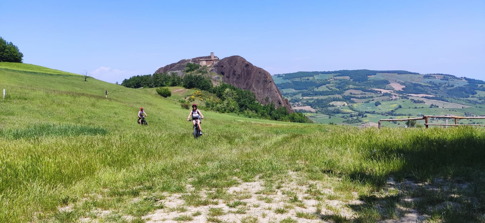
<path id="1" fill-rule="evenodd" d="M 24 62 L 114 83 L 214 52 L 271 74 L 407 70 L 485 80 L 485 0 L 1 1 Z"/>

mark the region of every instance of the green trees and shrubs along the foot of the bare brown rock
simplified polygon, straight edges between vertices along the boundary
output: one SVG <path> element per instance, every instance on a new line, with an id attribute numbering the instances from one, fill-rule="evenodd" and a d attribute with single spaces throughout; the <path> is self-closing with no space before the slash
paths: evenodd
<path id="1" fill-rule="evenodd" d="M 214 93 L 218 98 L 206 100 L 206 106 L 214 111 L 244 114 L 249 118 L 310 122 L 300 112 L 290 114 L 284 106 L 275 108 L 273 102 L 265 105 L 260 104 L 256 99 L 256 95 L 250 90 L 243 90 L 230 84 L 222 83 L 208 91 Z M 269 98 L 266 100 L 269 102 Z"/>

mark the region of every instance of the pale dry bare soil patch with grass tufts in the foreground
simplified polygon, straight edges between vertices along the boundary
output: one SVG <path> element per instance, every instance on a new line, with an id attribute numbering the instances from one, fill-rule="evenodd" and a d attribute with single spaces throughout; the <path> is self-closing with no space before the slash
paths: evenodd
<path id="1" fill-rule="evenodd" d="M 236 178 L 237 179 L 237 178 Z M 312 181 L 301 173 L 289 172 L 288 177 L 271 185 L 257 177 L 253 182 L 241 182 L 238 186 L 225 190 L 204 189 L 196 191 L 187 185 L 188 193 L 166 193 L 165 199 L 158 201 L 164 208 L 143 217 L 147 223 L 321 223 L 356 220 L 363 208 L 376 208 L 383 214 L 380 223 L 420 223 L 429 216 L 412 208 L 412 203 L 423 199 L 419 191 L 439 191 L 466 189 L 466 183 L 452 183 L 436 179 L 433 183 L 416 183 L 410 180 L 396 182 L 389 178 L 386 186 L 368 197 L 360 197 L 356 191 L 336 192 L 341 179 L 328 178 Z M 347 189 L 350 190 L 350 189 Z M 199 205 L 189 205 L 185 197 L 190 194 L 200 200 L 209 201 Z M 218 195 L 217 195 L 218 194 Z M 396 201 L 398 197 L 398 201 Z M 395 206 L 388 208 L 389 202 Z M 455 204 L 453 204 L 455 205 Z M 439 206 L 439 205 L 438 205 Z M 70 207 L 65 207 L 70 208 Z M 437 206 L 429 208 L 439 208 Z M 103 213 L 101 216 L 105 216 Z M 132 217 L 124 216 L 130 220 Z M 382 218 L 381 218 L 382 219 Z M 83 218 L 81 222 L 97 222 L 97 219 Z"/>

